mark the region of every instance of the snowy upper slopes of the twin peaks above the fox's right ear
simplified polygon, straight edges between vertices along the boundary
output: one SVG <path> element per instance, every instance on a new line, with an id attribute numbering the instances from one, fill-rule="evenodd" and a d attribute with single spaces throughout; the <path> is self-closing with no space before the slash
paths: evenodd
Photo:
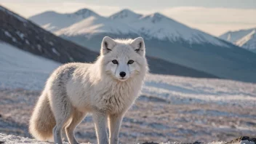
<path id="1" fill-rule="evenodd" d="M 188 41 L 191 44 L 210 43 L 218 46 L 228 47 L 223 41 L 210 36 L 207 33 L 189 28 L 178 23 L 159 12 L 152 15 L 138 15 L 134 12 L 123 10 L 111 15 L 111 20 L 120 20 L 135 28 L 141 35 L 148 38 L 168 39 L 169 41 Z"/>

